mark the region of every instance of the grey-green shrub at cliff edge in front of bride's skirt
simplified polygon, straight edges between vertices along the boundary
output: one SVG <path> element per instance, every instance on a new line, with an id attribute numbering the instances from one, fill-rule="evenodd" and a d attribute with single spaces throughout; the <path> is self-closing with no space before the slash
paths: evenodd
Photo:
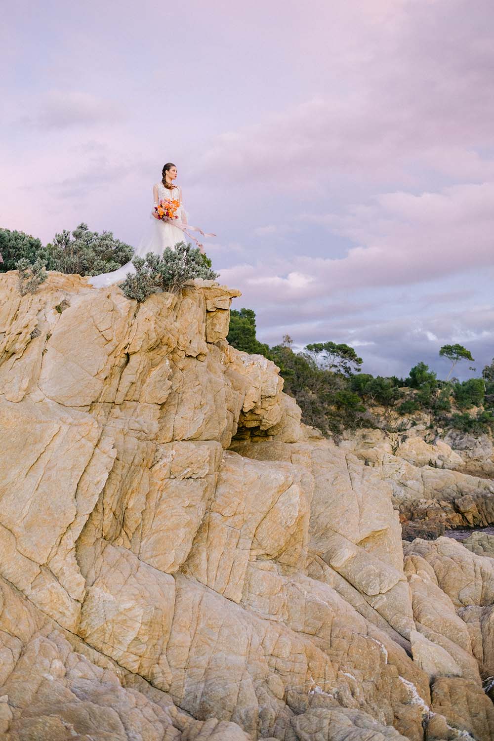
<path id="1" fill-rule="evenodd" d="M 127 299 L 144 301 L 151 293 L 179 293 L 184 284 L 194 278 L 214 280 L 218 273 L 204 264 L 196 247 L 179 242 L 173 250 L 167 247 L 160 256 L 148 252 L 145 259 L 133 259 L 136 273 L 130 273 L 120 288 Z"/>

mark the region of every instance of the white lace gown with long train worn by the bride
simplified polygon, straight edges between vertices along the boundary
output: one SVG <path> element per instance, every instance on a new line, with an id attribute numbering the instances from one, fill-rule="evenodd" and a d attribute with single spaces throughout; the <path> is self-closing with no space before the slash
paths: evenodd
<path id="1" fill-rule="evenodd" d="M 180 202 L 180 207 L 176 211 L 178 221 L 183 225 L 187 225 L 187 213 L 184 209 L 181 196 L 181 187 L 179 185 L 169 189 L 164 187 L 160 183 L 156 183 L 153 186 L 153 210 L 158 201 L 164 199 L 176 199 Z M 154 216 L 150 216 L 151 225 L 148 233 L 141 239 L 136 252 L 133 254 L 133 258 L 145 257 L 148 252 L 152 252 L 155 255 L 162 255 L 166 247 L 172 247 L 174 249 L 178 242 L 187 242 L 187 236 L 178 227 L 163 222 L 161 219 L 155 219 Z M 135 273 L 132 262 L 127 262 L 122 265 L 118 270 L 113 270 L 111 273 L 101 273 L 99 276 L 93 276 L 89 278 L 89 282 L 95 288 L 103 288 L 106 285 L 113 285 L 113 283 L 122 283 L 127 277 L 128 273 Z"/>

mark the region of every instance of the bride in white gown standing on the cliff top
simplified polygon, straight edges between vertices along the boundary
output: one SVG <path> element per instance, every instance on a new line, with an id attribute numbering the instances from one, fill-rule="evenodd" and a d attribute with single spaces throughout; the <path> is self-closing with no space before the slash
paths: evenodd
<path id="1" fill-rule="evenodd" d="M 141 239 L 133 257 L 145 257 L 148 252 L 152 252 L 155 255 L 162 255 L 166 247 L 172 247 L 172 249 L 174 249 L 178 242 L 184 242 L 184 233 L 187 234 L 187 213 L 182 202 L 181 187 L 179 185 L 173 185 L 173 181 L 176 179 L 177 174 L 176 165 L 173 165 L 173 162 L 167 162 L 161 173 L 161 182 L 153 185 L 153 210 L 151 212 L 151 216 L 154 217 L 153 224 L 151 225 L 150 233 L 144 239 Z M 181 227 L 175 226 L 170 222 L 164 222 L 159 218 L 154 207 L 164 199 L 173 199 L 180 203 L 180 206 L 176 210 L 176 216 L 178 217 L 177 223 L 180 224 Z M 188 228 L 193 231 L 200 231 L 199 229 L 196 229 L 196 227 Z M 187 236 L 190 235 L 187 234 Z M 192 237 L 192 239 L 194 238 Z M 198 246 L 201 252 L 204 252 L 202 245 Z M 113 283 L 124 282 L 128 273 L 135 272 L 136 268 L 134 268 L 132 262 L 127 262 L 126 265 L 122 265 L 119 270 L 113 270 L 111 273 L 101 273 L 99 276 L 89 277 L 89 282 L 95 288 L 102 288 L 103 286 L 112 285 Z"/>

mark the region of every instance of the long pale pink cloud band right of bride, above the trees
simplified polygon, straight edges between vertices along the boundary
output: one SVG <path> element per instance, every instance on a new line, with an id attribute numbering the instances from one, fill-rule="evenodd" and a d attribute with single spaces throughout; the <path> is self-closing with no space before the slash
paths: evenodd
<path id="1" fill-rule="evenodd" d="M 250 300 L 293 302 L 349 288 L 413 285 L 494 265 L 494 182 L 457 185 L 436 193 L 382 193 L 343 216 L 314 216 L 355 242 L 341 259 L 276 256 L 262 265 L 221 270 Z"/>

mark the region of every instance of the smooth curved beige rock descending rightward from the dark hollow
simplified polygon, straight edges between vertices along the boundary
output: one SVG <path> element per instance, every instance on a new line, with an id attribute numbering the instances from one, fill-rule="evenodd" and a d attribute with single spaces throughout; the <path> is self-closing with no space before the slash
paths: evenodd
<path id="1" fill-rule="evenodd" d="M 341 585 L 345 595 L 347 585 L 353 586 L 393 631 L 407 637 L 415 623 L 403 574 L 401 527 L 390 490 L 375 473 L 328 442 L 284 445 L 260 439 L 238 442 L 235 448 L 244 456 L 290 460 L 305 469 L 305 486 L 313 489 L 310 553 L 344 582 L 324 578 L 337 589 Z"/>

